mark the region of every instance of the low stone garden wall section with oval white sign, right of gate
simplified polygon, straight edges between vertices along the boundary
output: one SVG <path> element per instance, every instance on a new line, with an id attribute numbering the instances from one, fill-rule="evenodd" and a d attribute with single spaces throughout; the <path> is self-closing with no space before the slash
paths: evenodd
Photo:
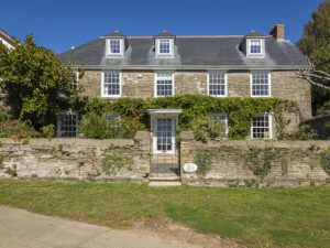
<path id="1" fill-rule="evenodd" d="M 207 186 L 305 186 L 330 183 L 320 166 L 321 152 L 327 141 L 182 141 L 182 181 L 187 185 Z M 198 154 L 210 159 L 205 176 L 187 173 L 185 164 L 197 163 Z M 267 157 L 268 155 L 268 157 Z M 265 158 L 271 158 L 265 159 Z M 264 179 L 252 168 L 271 170 Z M 186 165 L 187 166 L 187 165 Z"/>

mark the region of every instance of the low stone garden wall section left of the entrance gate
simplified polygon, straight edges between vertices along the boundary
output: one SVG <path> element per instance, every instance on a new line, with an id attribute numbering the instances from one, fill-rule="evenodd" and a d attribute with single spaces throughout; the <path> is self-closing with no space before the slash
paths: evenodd
<path id="1" fill-rule="evenodd" d="M 150 171 L 150 133 L 144 131 L 134 140 L 31 139 L 23 143 L 0 139 L 0 176 L 143 181 Z"/>

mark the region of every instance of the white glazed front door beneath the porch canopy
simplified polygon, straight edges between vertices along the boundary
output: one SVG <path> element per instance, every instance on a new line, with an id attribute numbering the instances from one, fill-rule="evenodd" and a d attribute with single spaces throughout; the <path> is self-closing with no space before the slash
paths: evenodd
<path id="1" fill-rule="evenodd" d="M 175 119 L 155 119 L 154 152 L 175 153 Z"/>

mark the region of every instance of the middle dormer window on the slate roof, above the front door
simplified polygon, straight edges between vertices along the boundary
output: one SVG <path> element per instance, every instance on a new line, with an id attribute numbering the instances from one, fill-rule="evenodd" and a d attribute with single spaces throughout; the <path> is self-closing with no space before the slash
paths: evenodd
<path id="1" fill-rule="evenodd" d="M 175 35 L 163 31 L 155 36 L 155 55 L 156 56 L 173 56 L 174 55 L 174 40 Z"/>

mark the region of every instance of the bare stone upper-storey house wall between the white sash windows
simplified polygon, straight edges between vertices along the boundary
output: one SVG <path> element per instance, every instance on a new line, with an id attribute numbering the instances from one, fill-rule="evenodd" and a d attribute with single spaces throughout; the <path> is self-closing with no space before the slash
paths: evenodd
<path id="1" fill-rule="evenodd" d="M 79 84 L 84 87 L 84 95 L 89 97 L 101 96 L 100 71 L 87 71 Z M 123 97 L 154 97 L 154 72 L 122 71 Z M 295 100 L 301 110 L 302 119 L 311 117 L 310 85 L 307 80 L 296 77 L 295 72 L 274 71 L 271 74 L 272 97 Z M 190 71 L 175 72 L 175 95 L 207 94 L 207 72 Z M 246 71 L 228 72 L 228 96 L 250 97 L 250 73 Z"/>

